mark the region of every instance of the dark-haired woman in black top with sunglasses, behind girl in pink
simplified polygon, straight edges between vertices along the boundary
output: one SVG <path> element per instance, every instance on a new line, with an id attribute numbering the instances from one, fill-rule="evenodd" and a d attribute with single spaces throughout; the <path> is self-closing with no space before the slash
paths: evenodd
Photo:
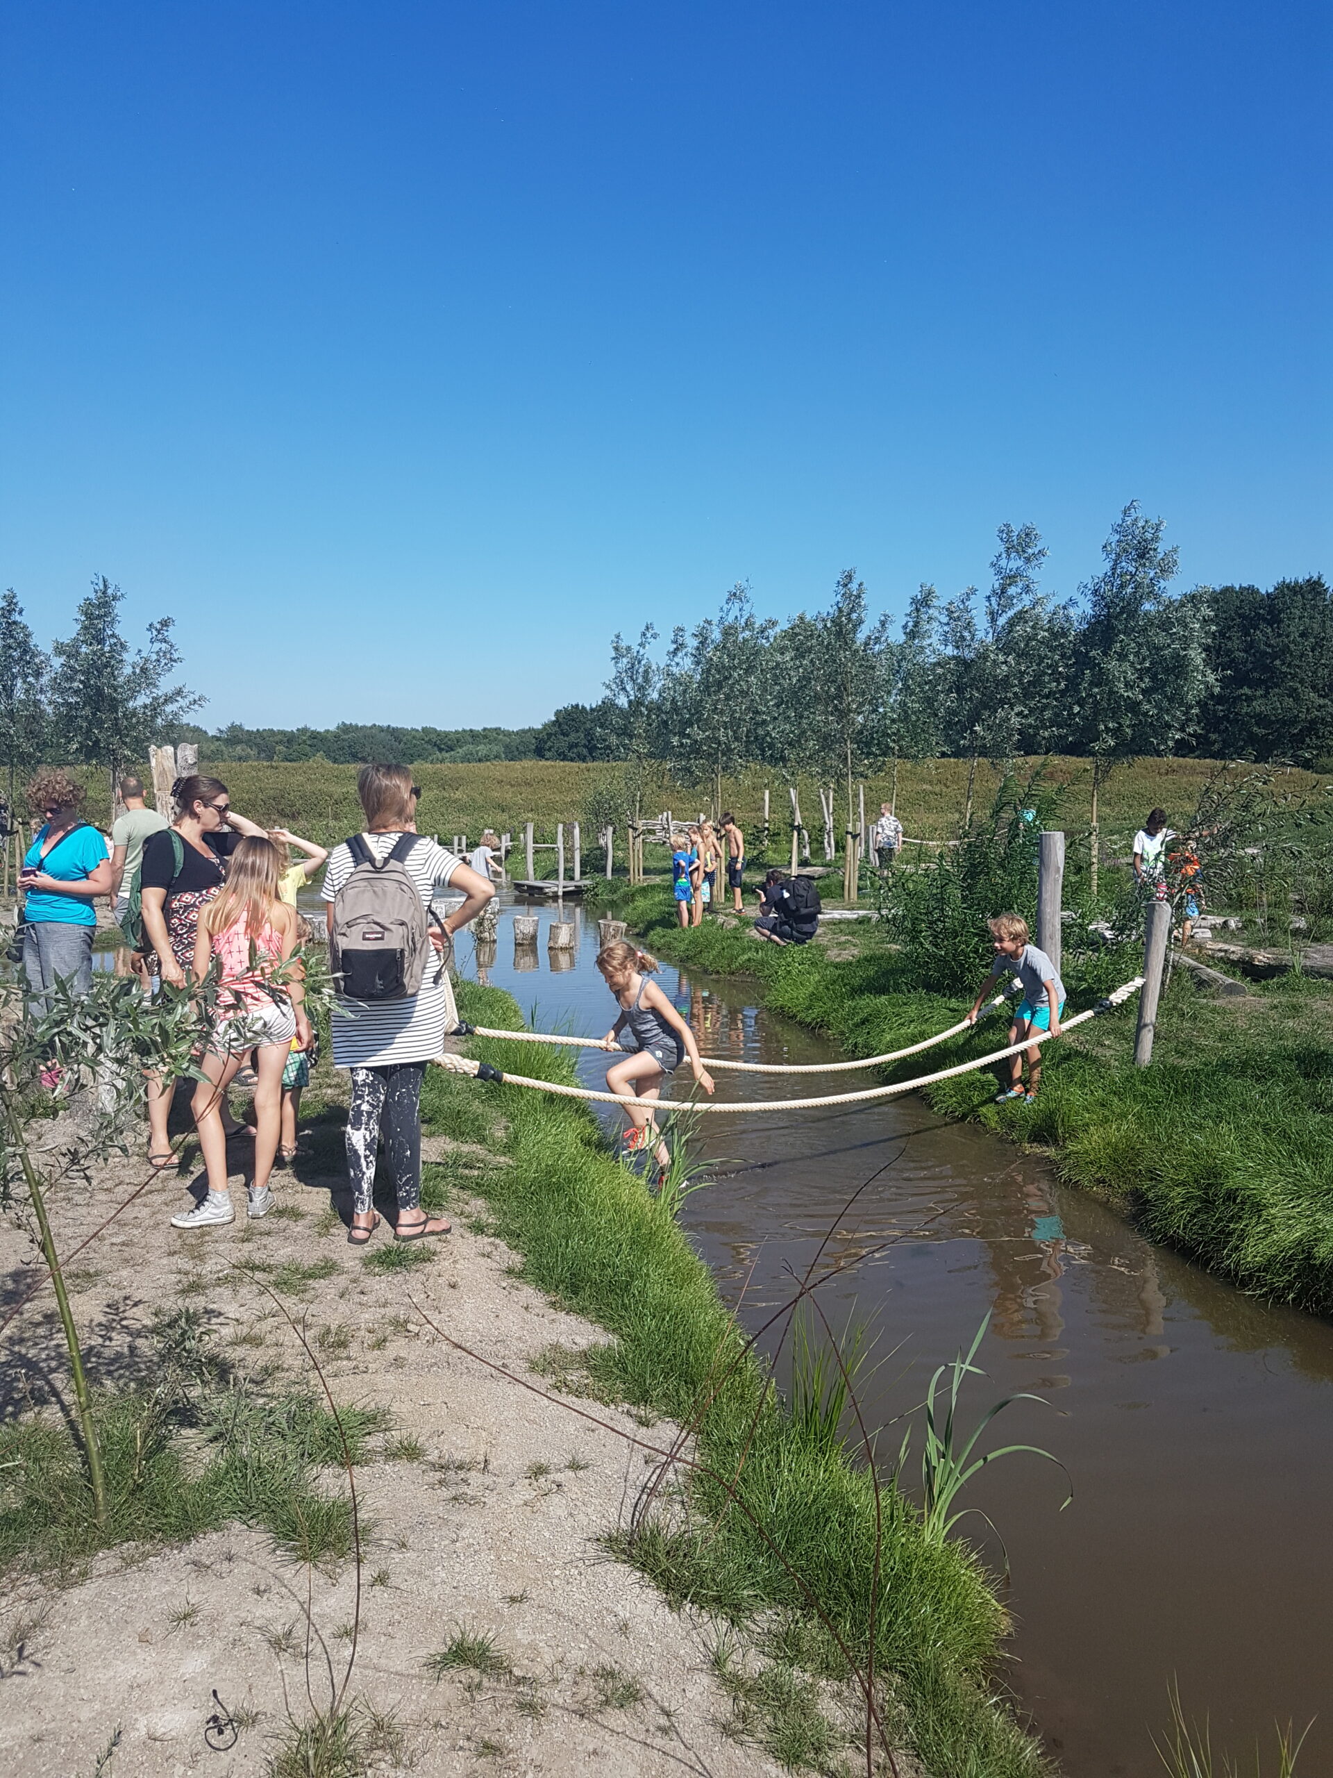
<path id="1" fill-rule="evenodd" d="M 183 989 L 185 971 L 194 964 L 199 914 L 222 887 L 227 857 L 240 839 L 263 839 L 265 830 L 236 814 L 220 779 L 178 779 L 171 793 L 180 813 L 169 829 L 149 834 L 144 841 L 139 887 L 144 935 L 151 944 L 148 974 L 160 974 L 164 981 Z M 153 1166 L 172 1166 L 176 1161 L 167 1136 L 174 1088 L 174 1081 L 149 1076 L 148 1157 Z M 235 1129 L 227 1134 L 235 1134 Z"/>

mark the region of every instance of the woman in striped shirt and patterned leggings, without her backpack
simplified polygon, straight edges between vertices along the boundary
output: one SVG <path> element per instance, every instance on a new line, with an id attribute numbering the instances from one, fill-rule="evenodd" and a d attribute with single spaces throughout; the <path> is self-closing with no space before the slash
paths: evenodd
<path id="1" fill-rule="evenodd" d="M 361 836 L 377 861 L 384 861 L 403 834 L 416 832 L 419 786 L 407 766 L 363 766 L 357 795 L 366 813 Z M 332 939 L 332 903 L 355 869 L 347 841 L 334 846 L 323 875 L 329 937 Z M 496 893 L 475 869 L 446 852 L 434 839 L 418 839 L 405 869 L 430 912 L 441 889 L 462 891 L 462 907 L 443 919 L 444 937 L 432 926 L 430 939 L 448 965 L 453 933 L 475 919 Z M 416 994 L 391 1001 L 339 999 L 332 1019 L 332 1061 L 352 1072 L 352 1106 L 347 1115 L 347 1170 L 352 1179 L 352 1227 L 347 1239 L 364 1246 L 375 1232 L 373 1209 L 375 1149 L 384 1133 L 384 1157 L 398 1193 L 398 1241 L 421 1241 L 448 1234 L 444 1216 L 427 1216 L 421 1209 L 421 1079 L 427 1063 L 444 1049 L 453 1022 L 453 990 L 446 969 L 435 980 L 427 965 Z"/>

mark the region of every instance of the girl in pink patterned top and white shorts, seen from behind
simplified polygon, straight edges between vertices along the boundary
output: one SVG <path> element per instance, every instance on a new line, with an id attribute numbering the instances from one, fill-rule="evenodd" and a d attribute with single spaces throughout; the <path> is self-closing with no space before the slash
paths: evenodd
<path id="1" fill-rule="evenodd" d="M 268 839 L 242 839 L 231 855 L 227 880 L 199 916 L 194 976 L 203 981 L 219 965 L 219 1022 L 203 1056 L 204 1081 L 194 1090 L 194 1122 L 208 1168 L 208 1197 L 192 1211 L 172 1216 L 178 1229 L 203 1229 L 233 1220 L 227 1191 L 227 1140 L 220 1106 L 231 1077 L 254 1049 L 254 1181 L 247 1214 L 267 1216 L 274 1207 L 268 1175 L 274 1166 L 283 1106 L 283 1067 L 291 1038 L 309 1044 L 300 964 L 274 976 L 297 948 L 297 910 L 279 898 L 281 859 Z M 290 980 L 288 980 L 290 976 Z"/>

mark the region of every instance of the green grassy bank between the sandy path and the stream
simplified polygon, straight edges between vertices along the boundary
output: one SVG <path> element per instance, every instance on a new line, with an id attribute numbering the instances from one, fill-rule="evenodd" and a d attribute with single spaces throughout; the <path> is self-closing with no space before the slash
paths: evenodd
<path id="1" fill-rule="evenodd" d="M 464 983 L 460 1010 L 491 1026 L 517 1024 L 514 1001 L 491 989 Z M 556 1051 L 533 1054 L 501 1040 L 476 1049 L 499 1067 L 572 1077 Z M 716 1476 L 736 1476 L 739 1504 L 729 1504 L 720 1483 L 695 1472 L 690 1511 L 624 1552 L 670 1597 L 757 1627 L 766 1671 L 736 1684 L 759 1710 L 771 1751 L 810 1769 L 841 1769 L 837 1737 L 812 1726 L 819 1712 L 791 1709 L 793 1700 L 816 1696 L 818 1680 L 848 1678 L 841 1639 L 858 1664 L 873 1645 L 887 1675 L 883 1707 L 894 1739 L 917 1751 L 935 1778 L 1045 1771 L 1036 1744 L 994 1702 L 988 1671 L 1006 1623 L 970 1552 L 930 1542 L 915 1510 L 885 1490 L 871 1622 L 876 1508 L 867 1472 L 773 1403 L 757 1364 L 739 1353 L 741 1337 L 707 1268 L 606 1154 L 587 1109 L 432 1070 L 425 1118 L 443 1134 L 505 1154 L 507 1165 L 480 1188 L 496 1232 L 521 1253 L 533 1284 L 610 1335 L 583 1360 L 583 1387 L 675 1421 L 691 1421 L 698 1408 L 698 1462 Z M 720 1355 L 739 1362 L 709 1399 Z M 818 1597 L 826 1625 L 793 1570 Z M 720 1673 L 725 1668 L 720 1646 Z M 782 1709 L 755 1703 L 759 1694 Z"/>

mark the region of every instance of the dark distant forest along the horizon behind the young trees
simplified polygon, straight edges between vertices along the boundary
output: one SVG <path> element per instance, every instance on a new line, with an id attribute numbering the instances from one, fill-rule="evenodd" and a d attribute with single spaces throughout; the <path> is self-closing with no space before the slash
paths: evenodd
<path id="1" fill-rule="evenodd" d="M 933 589 L 922 589 L 922 594 L 930 592 Z M 986 603 L 994 619 L 994 589 Z M 754 685 L 741 693 L 752 709 L 759 706 L 755 715 L 761 717 L 754 745 L 746 750 L 764 757 L 764 734 L 777 743 L 780 733 L 793 722 L 800 725 L 802 711 L 809 709 L 810 685 L 805 676 L 810 654 L 802 638 L 793 637 L 793 629 L 807 621 L 794 619 L 787 629 L 759 626 L 759 635 L 754 619 L 743 621 L 738 631 L 734 615 L 732 599 L 730 622 L 720 619 L 714 626 L 704 626 L 707 635 L 702 637 L 677 633 L 674 654 L 658 677 L 640 644 L 638 665 L 645 676 L 642 692 L 647 699 L 626 697 L 624 686 L 613 679 L 608 693 L 617 690 L 619 695 L 608 695 L 597 704 L 565 704 L 540 727 L 430 729 L 341 722 L 334 729 L 249 729 L 233 722 L 215 733 L 183 724 L 178 738 L 199 741 L 203 757 L 212 761 L 583 763 L 626 759 L 645 743 L 658 757 L 672 757 L 679 749 L 684 686 L 713 677 L 709 656 L 720 667 L 716 656 L 729 653 L 736 665 L 741 665 L 741 658 L 746 661 L 750 679 L 764 681 L 766 695 L 757 695 Z M 1189 708 L 1180 711 L 1184 722 L 1173 740 L 1168 741 L 1166 731 L 1162 733 L 1166 745 L 1161 750 L 1333 768 L 1333 590 L 1322 574 L 1281 580 L 1267 592 L 1258 587 L 1216 587 L 1175 599 L 1161 597 L 1152 615 L 1162 626 L 1162 667 L 1168 674 L 1173 670 L 1166 663 L 1173 628 L 1187 629 L 1196 642 L 1194 660 L 1185 672 L 1189 686 L 1182 686 L 1182 702 Z M 1102 613 L 1098 628 L 1107 628 L 1107 619 L 1114 631 L 1118 626 L 1113 612 Z M 903 752 L 967 757 L 978 750 L 983 731 L 981 750 L 986 752 L 1001 741 L 1015 743 L 1022 752 L 1097 750 L 1077 685 L 1081 653 L 1102 647 L 1090 621 L 1081 621 L 1068 606 L 1040 606 L 1031 599 L 1002 615 L 999 624 L 992 621 L 988 626 L 985 617 L 976 624 L 969 621 L 970 601 L 942 606 L 919 596 L 903 642 L 885 633 L 876 640 L 846 638 L 848 653 L 864 653 L 867 658 L 878 654 L 889 677 L 896 670 L 903 677 L 905 656 L 912 656 L 908 665 L 917 677 L 919 701 L 924 699 L 930 708 L 930 720 L 922 724 L 919 718 L 914 736 L 901 734 Z M 1011 631 L 1008 640 L 1006 628 Z M 784 647 L 787 637 L 798 645 Z M 1120 637 L 1107 637 L 1113 651 L 1118 640 Z M 1152 637 L 1146 635 L 1145 640 L 1148 651 L 1137 669 L 1143 679 L 1155 672 Z M 1175 642 L 1180 640 L 1184 638 L 1177 635 Z M 622 654 L 617 660 L 624 667 L 629 651 L 624 644 L 619 645 Z M 841 645 L 834 638 L 835 656 Z M 1026 677 L 1024 663 L 1038 670 L 1036 686 L 1018 699 L 1029 709 L 1010 709 L 1011 734 L 990 733 L 988 717 L 995 701 L 1010 706 L 1015 702 L 1015 674 Z M 835 669 L 837 661 L 832 665 Z M 901 690 L 910 692 L 910 686 L 905 683 Z M 1132 667 L 1123 681 L 1123 695 L 1129 701 L 1136 697 Z M 762 720 L 764 704 L 771 711 L 768 720 Z M 1038 706 L 1040 720 L 1034 722 L 1031 709 Z M 773 763 L 778 763 L 777 757 Z"/>

